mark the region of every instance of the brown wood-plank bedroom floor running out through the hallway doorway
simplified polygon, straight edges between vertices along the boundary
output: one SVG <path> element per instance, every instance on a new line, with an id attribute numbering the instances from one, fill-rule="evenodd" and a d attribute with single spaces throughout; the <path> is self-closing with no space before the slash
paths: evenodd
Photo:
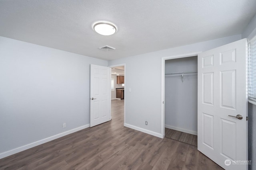
<path id="1" fill-rule="evenodd" d="M 112 120 L 0 159 L 1 170 L 217 170 L 196 147 L 124 127 L 124 100 Z"/>

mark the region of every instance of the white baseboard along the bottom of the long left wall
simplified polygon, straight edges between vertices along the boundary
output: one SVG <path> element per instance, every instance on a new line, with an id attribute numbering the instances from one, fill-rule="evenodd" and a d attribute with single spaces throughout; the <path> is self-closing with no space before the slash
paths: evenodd
<path id="1" fill-rule="evenodd" d="M 42 140 L 40 140 L 40 141 L 36 141 L 36 142 L 30 143 L 30 144 L 24 145 L 24 146 L 22 146 L 22 147 L 18 147 L 18 148 L 12 149 L 12 150 L 8 150 L 8 151 L 6 151 L 6 152 L 2 152 L 2 153 L 0 153 L 0 159 L 5 158 L 5 157 L 7 157 L 7 156 L 10 156 L 10 155 L 12 155 L 12 154 L 16 154 L 16 153 L 21 152 L 21 151 L 23 151 L 23 150 L 30 149 L 30 148 L 32 148 L 32 147 L 36 147 L 36 146 L 38 146 L 38 145 L 41 145 L 41 144 L 43 144 L 43 143 L 52 141 L 52 140 L 54 140 L 54 139 L 57 139 L 57 138 L 60 138 L 60 137 L 69 135 L 69 134 L 74 133 L 74 132 L 76 132 L 76 131 L 80 131 L 80 130 L 85 129 L 85 128 L 87 128 L 87 127 L 90 127 L 90 124 L 84 125 L 84 126 L 80 126 L 80 127 L 77 127 L 77 128 L 75 128 L 75 129 L 71 129 L 71 130 L 66 131 L 66 132 L 59 133 L 59 134 L 57 134 L 57 135 L 54 135 L 54 136 L 51 136 L 51 137 L 42 139 Z"/>

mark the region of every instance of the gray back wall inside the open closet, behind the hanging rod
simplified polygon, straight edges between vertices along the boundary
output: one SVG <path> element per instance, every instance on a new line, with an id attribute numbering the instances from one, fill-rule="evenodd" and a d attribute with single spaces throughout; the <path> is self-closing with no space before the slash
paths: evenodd
<path id="1" fill-rule="evenodd" d="M 197 71 L 197 56 L 165 61 L 165 74 Z M 197 135 L 197 74 L 165 76 L 165 127 Z"/>

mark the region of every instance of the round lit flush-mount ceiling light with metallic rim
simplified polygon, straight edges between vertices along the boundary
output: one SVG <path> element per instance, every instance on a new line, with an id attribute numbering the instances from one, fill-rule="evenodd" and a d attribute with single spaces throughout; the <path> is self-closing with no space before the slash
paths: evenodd
<path id="1" fill-rule="evenodd" d="M 98 22 L 93 25 L 93 29 L 101 35 L 112 35 L 116 32 L 116 27 L 107 22 Z"/>

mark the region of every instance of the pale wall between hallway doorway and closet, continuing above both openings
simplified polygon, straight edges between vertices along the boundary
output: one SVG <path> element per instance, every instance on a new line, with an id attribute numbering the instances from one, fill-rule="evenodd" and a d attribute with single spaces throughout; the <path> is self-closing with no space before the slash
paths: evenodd
<path id="1" fill-rule="evenodd" d="M 125 125 L 161 137 L 161 65 L 162 57 L 206 51 L 241 39 L 241 35 L 155 51 L 109 61 L 126 64 Z M 131 92 L 129 92 L 129 88 Z M 148 125 L 145 125 L 148 121 Z"/>

